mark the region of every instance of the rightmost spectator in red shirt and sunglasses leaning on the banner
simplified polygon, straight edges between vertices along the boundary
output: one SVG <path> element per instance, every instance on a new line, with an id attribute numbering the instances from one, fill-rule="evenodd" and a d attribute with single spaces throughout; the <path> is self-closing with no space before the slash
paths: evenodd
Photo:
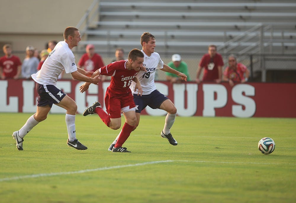
<path id="1" fill-rule="evenodd" d="M 231 87 L 234 86 L 234 82 L 244 83 L 248 81 L 250 71 L 244 64 L 237 63 L 236 56 L 229 55 L 228 64 L 229 66 L 226 67 L 223 73 L 223 80 L 229 82 Z"/>

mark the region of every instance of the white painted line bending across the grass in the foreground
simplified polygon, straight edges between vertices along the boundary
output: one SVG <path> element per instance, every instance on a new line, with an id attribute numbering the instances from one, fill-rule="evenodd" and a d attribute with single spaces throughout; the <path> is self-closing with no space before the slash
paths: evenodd
<path id="1" fill-rule="evenodd" d="M 77 174 L 77 173 L 88 173 L 93 171 L 99 170 L 109 170 L 115 168 L 125 168 L 125 167 L 135 167 L 135 166 L 142 166 L 148 164 L 156 164 L 156 163 L 165 163 L 165 162 L 197 162 L 197 163 L 221 163 L 221 164 L 260 164 L 260 165 L 296 165 L 296 164 L 281 164 L 281 163 L 254 163 L 254 162 L 223 162 L 223 161 L 188 161 L 188 160 L 164 160 L 164 161 L 151 161 L 151 162 L 144 162 L 144 163 L 136 163 L 136 164 L 128 164 L 128 165 L 120 165 L 120 166 L 110 166 L 110 167 L 102 167 L 102 168 L 94 168 L 94 169 L 86 169 L 86 170 L 77 170 L 77 171 L 68 171 L 68 172 L 59 172 L 59 173 L 39 173 L 39 174 L 32 174 L 26 176 L 15 176 L 10 178 L 1 178 L 0 182 L 3 181 L 13 181 L 13 180 L 20 180 L 20 179 L 27 179 L 27 178 L 39 178 L 39 177 L 49 177 L 49 176 L 61 176 L 61 175 L 70 175 L 70 174 Z"/>

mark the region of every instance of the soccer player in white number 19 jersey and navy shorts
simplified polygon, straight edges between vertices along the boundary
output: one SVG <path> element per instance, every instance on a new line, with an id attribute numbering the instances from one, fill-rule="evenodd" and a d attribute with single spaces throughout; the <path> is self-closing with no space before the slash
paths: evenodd
<path id="1" fill-rule="evenodd" d="M 155 86 L 154 76 L 156 69 L 160 69 L 165 72 L 173 73 L 181 77 L 183 80 L 187 81 L 187 76 L 184 73 L 178 72 L 175 69 L 170 68 L 168 65 L 164 64 L 163 61 L 160 59 L 158 53 L 154 52 L 156 46 L 155 37 L 145 32 L 141 35 L 141 45 L 142 45 L 142 52 L 144 53 L 144 62 L 143 66 L 146 68 L 146 71 L 140 71 L 137 74 L 137 78 L 139 79 L 141 86 L 142 86 L 142 95 L 139 96 L 135 91 L 136 83 L 132 82 L 130 88 L 133 93 L 133 100 L 136 104 L 136 124 L 134 125 L 134 129 L 139 125 L 140 122 L 140 114 L 141 111 L 149 106 L 153 109 L 163 109 L 168 112 L 165 118 L 165 125 L 163 130 L 161 131 L 161 137 L 168 139 L 170 144 L 177 145 L 178 142 L 173 138 L 172 134 L 170 133 L 170 128 L 173 126 L 177 109 L 172 101 L 167 98 L 165 95 L 161 94 Z M 109 151 L 112 150 L 114 145 L 118 140 L 119 135 L 113 141 L 113 143 L 109 147 Z"/>

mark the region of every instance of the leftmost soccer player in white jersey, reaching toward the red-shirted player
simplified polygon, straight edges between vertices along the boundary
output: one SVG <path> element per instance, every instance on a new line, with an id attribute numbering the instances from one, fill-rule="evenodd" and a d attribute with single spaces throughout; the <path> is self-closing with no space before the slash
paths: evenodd
<path id="1" fill-rule="evenodd" d="M 68 131 L 67 144 L 77 150 L 86 150 L 87 147 L 76 139 L 75 115 L 77 105 L 73 99 L 67 96 L 62 90 L 56 87 L 59 74 L 65 70 L 71 73 L 74 79 L 98 84 L 99 76 L 91 78 L 93 72 L 87 72 L 78 68 L 75 64 L 75 57 L 71 49 L 78 45 L 81 40 L 80 32 L 76 27 L 67 27 L 64 31 L 65 41 L 60 41 L 54 50 L 44 61 L 41 69 L 32 74 L 36 82 L 38 93 L 37 111 L 28 118 L 27 122 L 21 129 L 13 132 L 12 137 L 16 140 L 18 150 L 23 150 L 22 143 L 25 135 L 39 122 L 44 121 L 52 108 L 52 104 L 66 109 L 66 125 Z"/>

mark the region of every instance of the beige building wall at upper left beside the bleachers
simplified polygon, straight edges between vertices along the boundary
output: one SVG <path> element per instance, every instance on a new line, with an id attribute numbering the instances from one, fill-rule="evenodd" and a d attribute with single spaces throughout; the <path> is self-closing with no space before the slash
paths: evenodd
<path id="1" fill-rule="evenodd" d="M 1 0 L 0 46 L 12 44 L 14 51 L 28 45 L 38 50 L 49 40 L 62 41 L 68 26 L 76 26 L 93 0 L 10 1 Z"/>

